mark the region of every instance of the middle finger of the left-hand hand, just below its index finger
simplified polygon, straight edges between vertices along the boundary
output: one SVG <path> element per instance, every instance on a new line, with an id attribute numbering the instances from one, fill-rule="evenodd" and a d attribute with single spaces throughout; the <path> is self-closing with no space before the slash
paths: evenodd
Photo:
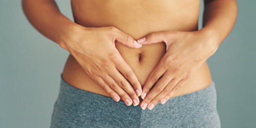
<path id="1" fill-rule="evenodd" d="M 137 106 L 139 104 L 139 97 L 135 93 L 133 87 L 130 85 L 130 83 L 124 78 L 123 75 L 118 72 L 116 69 L 114 72 L 110 73 L 110 76 L 117 82 L 117 84 L 130 95 L 130 98 L 132 98 L 133 105 Z"/>

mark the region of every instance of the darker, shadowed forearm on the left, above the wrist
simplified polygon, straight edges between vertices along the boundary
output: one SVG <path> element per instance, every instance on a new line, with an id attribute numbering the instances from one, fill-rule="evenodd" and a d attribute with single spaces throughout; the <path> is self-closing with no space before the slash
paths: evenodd
<path id="1" fill-rule="evenodd" d="M 54 0 L 22 0 L 22 7 L 30 23 L 58 44 L 77 25 L 61 14 Z"/>

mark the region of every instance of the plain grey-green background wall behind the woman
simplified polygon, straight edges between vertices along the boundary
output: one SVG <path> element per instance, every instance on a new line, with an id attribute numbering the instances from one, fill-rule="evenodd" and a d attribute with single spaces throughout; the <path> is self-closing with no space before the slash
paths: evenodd
<path id="1" fill-rule="evenodd" d="M 69 0 L 57 3 L 61 12 L 72 19 Z M 207 61 L 217 85 L 223 128 L 256 126 L 255 4 L 255 0 L 238 1 L 234 29 Z M 28 23 L 20 0 L 0 0 L 1 128 L 50 126 L 67 56 L 67 51 Z"/>

